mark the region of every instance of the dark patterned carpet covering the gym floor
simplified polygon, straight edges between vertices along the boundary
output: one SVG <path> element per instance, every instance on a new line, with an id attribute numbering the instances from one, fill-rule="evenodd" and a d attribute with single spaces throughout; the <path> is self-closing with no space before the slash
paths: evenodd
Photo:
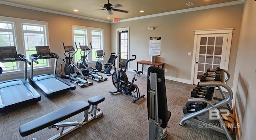
<path id="1" fill-rule="evenodd" d="M 133 73 L 127 72 L 131 81 Z M 104 74 L 102 74 L 104 75 Z M 104 117 L 95 119 L 88 124 L 78 128 L 74 132 L 68 134 L 62 140 L 147 140 L 148 139 L 148 119 L 146 105 L 147 80 L 146 75 L 136 76 L 137 81 L 134 82 L 140 89 L 141 94 L 145 94 L 145 98 L 140 99 L 136 103 L 132 103 L 133 97 L 122 93 L 112 95 L 109 91 L 115 91 L 112 84 L 112 76 L 105 82 L 94 82 L 92 86 L 80 88 L 76 86 L 76 90 L 62 93 L 50 99 L 44 97 L 36 104 L 20 107 L 18 109 L 8 110 L 6 113 L 0 114 L 0 140 L 30 140 L 36 137 L 38 140 L 48 139 L 59 133 L 56 129 L 45 128 L 27 137 L 19 134 L 19 126 L 32 121 L 42 115 L 60 109 L 61 107 L 75 103 L 76 101 L 86 101 L 96 95 L 103 95 L 105 101 L 100 103 L 98 107 L 103 111 Z M 198 128 L 198 124 L 186 121 L 185 126 L 178 123 L 183 118 L 182 107 L 190 97 L 191 90 L 195 85 L 184 84 L 171 80 L 166 82 L 166 95 L 168 101 L 168 110 L 172 116 L 168 122 L 167 140 L 225 140 L 226 136 L 209 128 Z M 81 121 L 83 113 L 71 117 L 66 121 Z M 207 119 L 207 114 L 202 116 Z"/>

